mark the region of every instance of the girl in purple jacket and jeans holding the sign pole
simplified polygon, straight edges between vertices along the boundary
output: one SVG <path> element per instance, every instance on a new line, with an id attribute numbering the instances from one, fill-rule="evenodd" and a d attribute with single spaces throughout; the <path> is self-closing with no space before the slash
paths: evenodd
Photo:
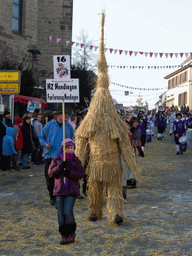
<path id="1" fill-rule="evenodd" d="M 61 150 L 63 142 L 61 144 Z M 76 223 L 74 220 L 74 202 L 79 192 L 79 181 L 84 178 L 84 168 L 81 161 L 74 155 L 74 141 L 65 139 L 65 161 L 63 151 L 56 155 L 51 161 L 48 169 L 50 178 L 55 177 L 55 188 L 53 195 L 56 198 L 58 209 L 58 231 L 61 233 L 60 244 L 74 242 Z"/>

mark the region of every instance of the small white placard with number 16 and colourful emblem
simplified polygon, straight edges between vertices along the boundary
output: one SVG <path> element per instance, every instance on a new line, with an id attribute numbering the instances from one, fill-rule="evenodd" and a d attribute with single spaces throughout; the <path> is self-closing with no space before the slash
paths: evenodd
<path id="1" fill-rule="evenodd" d="M 71 79 L 70 55 L 53 56 L 54 79 Z"/>

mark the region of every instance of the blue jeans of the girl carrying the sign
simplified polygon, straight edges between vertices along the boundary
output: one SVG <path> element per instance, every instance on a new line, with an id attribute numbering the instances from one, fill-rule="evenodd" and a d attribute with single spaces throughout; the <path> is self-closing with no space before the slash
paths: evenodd
<path id="1" fill-rule="evenodd" d="M 58 208 L 58 224 L 63 226 L 65 224 L 74 224 L 74 202 L 76 197 L 72 195 L 56 195 L 56 204 Z"/>

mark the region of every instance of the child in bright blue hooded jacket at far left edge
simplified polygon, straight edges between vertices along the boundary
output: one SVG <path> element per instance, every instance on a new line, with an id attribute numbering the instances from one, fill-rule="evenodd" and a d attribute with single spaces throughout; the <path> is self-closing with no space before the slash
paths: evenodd
<path id="1" fill-rule="evenodd" d="M 8 127 L 6 135 L 2 138 L 2 171 L 8 171 L 11 168 L 11 159 L 15 151 L 14 128 Z"/>

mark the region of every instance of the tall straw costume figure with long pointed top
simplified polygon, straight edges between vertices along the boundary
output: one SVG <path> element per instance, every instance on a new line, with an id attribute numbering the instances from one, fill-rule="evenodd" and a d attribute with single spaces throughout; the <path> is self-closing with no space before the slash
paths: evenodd
<path id="1" fill-rule="evenodd" d="M 108 184 L 108 222 L 123 221 L 121 155 L 138 182 L 134 151 L 126 123 L 118 116 L 111 98 L 108 66 L 104 56 L 104 12 L 101 18 L 101 43 L 98 59 L 98 81 L 88 114 L 75 132 L 75 155 L 87 164 L 89 220 L 102 218 L 103 190 Z"/>

